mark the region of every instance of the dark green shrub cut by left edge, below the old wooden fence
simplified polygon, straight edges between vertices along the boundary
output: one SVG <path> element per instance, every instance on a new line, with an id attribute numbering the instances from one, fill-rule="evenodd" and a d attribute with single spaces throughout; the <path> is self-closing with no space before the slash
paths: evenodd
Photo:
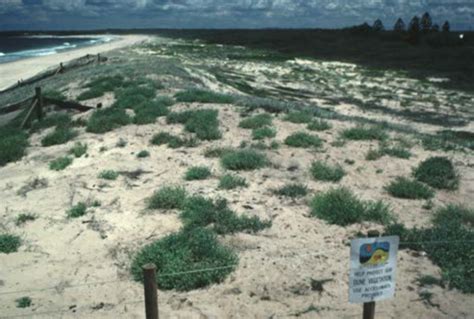
<path id="1" fill-rule="evenodd" d="M 0 127 L 0 166 L 15 162 L 25 155 L 28 135 L 20 129 Z"/>

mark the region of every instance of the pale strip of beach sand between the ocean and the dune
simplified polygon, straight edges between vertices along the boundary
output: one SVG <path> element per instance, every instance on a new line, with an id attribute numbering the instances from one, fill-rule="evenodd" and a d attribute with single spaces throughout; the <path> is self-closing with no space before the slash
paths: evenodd
<path id="1" fill-rule="evenodd" d="M 14 85 L 19 80 L 26 80 L 50 67 L 58 66 L 61 62 L 66 63 L 87 54 L 94 55 L 128 47 L 146 41 L 150 38 L 146 35 L 110 36 L 116 36 L 117 38 L 107 43 L 72 49 L 47 56 L 32 57 L 0 64 L 0 74 L 2 74 L 2 77 L 0 77 L 0 91 Z"/>

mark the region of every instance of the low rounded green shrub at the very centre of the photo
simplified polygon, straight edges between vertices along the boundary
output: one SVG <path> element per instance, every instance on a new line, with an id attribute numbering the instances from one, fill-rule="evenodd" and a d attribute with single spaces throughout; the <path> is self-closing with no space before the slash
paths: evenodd
<path id="1" fill-rule="evenodd" d="M 259 169 L 268 164 L 265 154 L 254 150 L 237 150 L 224 154 L 221 157 L 224 168 L 233 171 Z"/>

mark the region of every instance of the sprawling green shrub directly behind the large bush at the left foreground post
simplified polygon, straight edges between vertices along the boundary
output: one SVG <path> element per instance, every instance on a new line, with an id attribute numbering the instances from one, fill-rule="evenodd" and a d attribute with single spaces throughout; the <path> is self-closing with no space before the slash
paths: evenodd
<path id="1" fill-rule="evenodd" d="M 220 199 L 214 203 L 201 196 L 186 200 L 180 218 L 185 228 L 212 225 L 218 234 L 257 232 L 271 226 L 271 222 L 262 222 L 258 217 L 237 216 L 228 208 L 226 200 Z"/>

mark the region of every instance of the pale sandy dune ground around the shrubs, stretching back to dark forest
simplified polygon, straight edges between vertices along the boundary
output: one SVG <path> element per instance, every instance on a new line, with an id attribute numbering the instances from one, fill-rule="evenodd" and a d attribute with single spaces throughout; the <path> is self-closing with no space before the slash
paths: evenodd
<path id="1" fill-rule="evenodd" d="M 152 124 L 130 124 L 105 134 L 88 133 L 79 127 L 79 135 L 72 141 L 50 147 L 42 147 L 41 141 L 51 128 L 33 134 L 27 155 L 0 168 L 0 230 L 20 236 L 23 242 L 18 252 L 0 254 L 0 294 L 22 291 L 2 296 L 2 315 L 142 318 L 143 288 L 130 275 L 131 260 L 145 244 L 177 232 L 182 225 L 178 210 L 146 209 L 147 199 L 166 185 L 182 185 L 189 194 L 225 198 L 239 215 L 258 216 L 271 220 L 272 225 L 255 234 L 219 236 L 237 252 L 236 270 L 222 283 L 207 288 L 160 290 L 160 314 L 164 318 L 358 317 L 362 306 L 348 303 L 348 243 L 357 233 L 383 231 L 383 226 L 361 222 L 341 227 L 311 217 L 309 202 L 314 194 L 345 186 L 361 199 L 390 204 L 395 217 L 408 228 L 430 226 L 436 209 L 447 204 L 471 205 L 472 150 L 427 150 L 420 134 L 434 136 L 440 130 L 473 133 L 472 95 L 439 89 L 429 81 L 408 79 L 399 73 L 373 74 L 356 65 L 285 61 L 264 51 L 159 38 L 154 44 L 110 52 L 108 57 L 107 64 L 75 70 L 41 85 L 76 99 L 86 91 L 83 86 L 90 79 L 121 74 L 131 80 L 151 80 L 158 96 L 173 97 L 197 86 L 247 97 L 233 104 L 172 105 L 173 112 L 204 108 L 219 112 L 222 138 L 201 141 L 192 148 L 150 144 L 153 135 L 160 132 L 189 135 L 183 125 L 167 124 L 164 117 Z M 0 97 L 0 102 L 31 90 L 21 88 Z M 263 103 L 255 96 L 267 100 Z M 107 108 L 114 101 L 114 94 L 106 93 L 83 103 L 102 102 Z M 244 104 L 267 105 L 268 101 L 279 107 L 296 108 L 303 102 L 319 105 L 324 111 L 321 116 L 331 127 L 310 131 L 305 123 L 284 120 L 283 113 L 272 114 L 276 136 L 265 143 L 268 146 L 274 140 L 279 147 L 262 150 L 271 164 L 238 172 L 247 180 L 247 188 L 218 189 L 219 177 L 226 170 L 218 158 L 205 157 L 205 150 L 240 148 L 243 141 L 247 145 L 257 143 L 252 140 L 252 131 L 240 128 L 239 122 L 248 112 Z M 127 112 L 133 115 L 133 111 Z M 78 114 L 74 119 L 86 119 L 91 114 Z M 385 155 L 368 161 L 367 153 L 381 148 L 378 141 L 346 140 L 342 145 L 343 130 L 367 121 L 389 123 L 385 126 L 388 143 L 403 144 L 411 157 Z M 323 146 L 295 148 L 284 144 L 289 135 L 300 131 L 319 136 Z M 119 143 L 121 139 L 126 143 Z M 88 145 L 87 156 L 75 158 L 62 171 L 49 169 L 49 163 L 66 155 L 76 142 Z M 148 150 L 150 156 L 137 158 L 142 150 Z M 454 163 L 460 177 L 458 190 L 436 190 L 429 203 L 387 193 L 384 186 L 398 176 L 411 176 L 413 168 L 432 156 L 447 156 Z M 346 175 L 338 183 L 315 180 L 310 173 L 314 161 L 339 164 Z M 209 167 L 212 176 L 185 181 L 187 169 L 199 165 Z M 116 180 L 104 180 L 98 178 L 103 170 L 122 174 Z M 143 172 L 134 178 L 130 173 L 137 170 Z M 290 199 L 273 193 L 288 183 L 306 185 L 309 194 Z M 100 201 L 101 205 L 78 219 L 67 218 L 66 211 L 81 201 Z M 431 205 L 432 209 L 426 209 Z M 21 213 L 35 214 L 36 220 L 17 226 L 16 217 Z M 417 282 L 420 276 L 440 274 L 440 268 L 423 252 L 401 250 L 396 297 L 377 304 L 377 318 L 469 318 L 474 313 L 471 295 L 436 285 L 421 287 Z M 312 280 L 325 279 L 331 281 L 322 291 L 312 285 Z M 421 298 L 424 291 L 432 297 Z M 32 299 L 32 306 L 18 309 L 15 300 L 23 296 Z"/>

